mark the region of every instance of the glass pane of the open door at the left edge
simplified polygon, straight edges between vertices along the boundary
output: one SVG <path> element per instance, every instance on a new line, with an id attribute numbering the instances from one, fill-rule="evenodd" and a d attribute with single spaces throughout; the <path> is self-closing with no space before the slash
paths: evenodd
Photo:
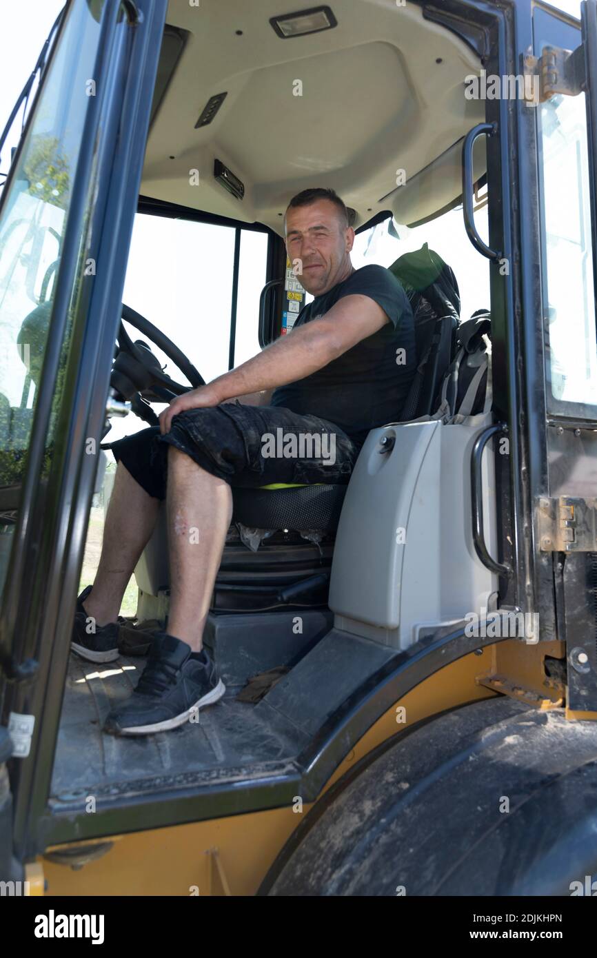
<path id="1" fill-rule="evenodd" d="M 90 102 L 86 84 L 94 75 L 102 8 L 103 3 L 95 6 L 94 17 L 84 0 L 75 0 L 64 14 L 57 48 L 1 197 L 0 583 L 10 555 L 5 534 L 13 528 L 42 376 L 62 237 Z M 81 249 L 81 261 L 82 255 Z M 63 357 L 79 293 L 80 283 L 71 296 Z M 46 470 L 51 462 L 61 381 L 58 378 L 46 438 Z"/>

